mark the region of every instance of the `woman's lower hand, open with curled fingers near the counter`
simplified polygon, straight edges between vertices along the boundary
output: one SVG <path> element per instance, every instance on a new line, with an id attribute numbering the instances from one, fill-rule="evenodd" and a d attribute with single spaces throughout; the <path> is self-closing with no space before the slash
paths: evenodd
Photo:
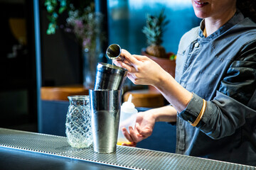
<path id="1" fill-rule="evenodd" d="M 124 136 L 129 140 L 130 144 L 124 146 L 135 147 L 137 142 L 140 142 L 149 137 L 154 129 L 156 118 L 151 111 L 140 112 L 137 114 L 135 128 L 129 127 L 129 132 L 126 128 L 122 128 Z"/>

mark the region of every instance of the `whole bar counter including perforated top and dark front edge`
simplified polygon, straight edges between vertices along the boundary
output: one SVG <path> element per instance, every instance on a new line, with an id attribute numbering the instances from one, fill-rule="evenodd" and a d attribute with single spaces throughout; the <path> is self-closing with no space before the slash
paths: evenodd
<path id="1" fill-rule="evenodd" d="M 113 154 L 70 147 L 66 137 L 0 128 L 0 169 L 256 169 L 181 154 L 117 146 Z"/>

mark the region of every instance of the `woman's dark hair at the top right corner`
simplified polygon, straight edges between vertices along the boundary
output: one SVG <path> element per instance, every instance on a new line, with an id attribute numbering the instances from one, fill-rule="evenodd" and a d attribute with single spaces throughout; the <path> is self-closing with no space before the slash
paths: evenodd
<path id="1" fill-rule="evenodd" d="M 237 8 L 240 9 L 245 17 L 249 17 L 256 23 L 256 1 L 255 0 L 237 0 Z"/>

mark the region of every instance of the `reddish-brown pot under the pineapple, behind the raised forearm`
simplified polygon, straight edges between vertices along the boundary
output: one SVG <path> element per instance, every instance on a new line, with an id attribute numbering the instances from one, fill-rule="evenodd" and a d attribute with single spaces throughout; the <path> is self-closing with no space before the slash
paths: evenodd
<path id="1" fill-rule="evenodd" d="M 166 55 L 173 55 L 173 52 L 169 52 Z M 142 55 L 145 55 L 146 57 L 149 57 L 151 60 L 156 62 L 157 64 L 160 65 L 166 72 L 171 74 L 172 77 L 175 78 L 175 67 L 176 67 L 176 60 L 169 60 L 169 58 L 159 58 L 159 57 L 154 57 L 152 55 L 149 55 L 146 50 L 143 48 L 142 49 Z M 149 86 L 150 91 L 158 91 L 154 86 Z"/>

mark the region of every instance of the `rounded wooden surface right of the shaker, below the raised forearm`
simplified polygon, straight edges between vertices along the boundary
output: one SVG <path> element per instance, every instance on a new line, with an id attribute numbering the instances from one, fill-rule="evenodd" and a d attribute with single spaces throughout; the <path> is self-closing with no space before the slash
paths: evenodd
<path id="1" fill-rule="evenodd" d="M 135 107 L 157 108 L 164 106 L 164 96 L 159 91 L 150 91 L 148 89 L 127 91 L 124 94 L 124 101 L 127 101 L 129 94 L 132 94 L 132 103 Z"/>

